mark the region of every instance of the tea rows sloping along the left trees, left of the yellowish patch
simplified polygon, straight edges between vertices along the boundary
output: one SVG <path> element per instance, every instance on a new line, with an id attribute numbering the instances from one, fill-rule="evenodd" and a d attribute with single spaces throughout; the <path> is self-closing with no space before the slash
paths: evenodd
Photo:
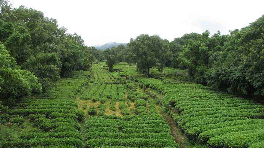
<path id="1" fill-rule="evenodd" d="M 21 102 L 1 114 L 1 120 L 19 126 L 30 119 L 32 129 L 16 141 L 1 140 L 0 147 L 83 147 L 83 136 L 78 121 L 85 113 L 78 110 L 73 98 L 89 82 L 91 73 L 79 71 L 72 78 L 63 79 L 57 87 L 42 95 L 23 98 Z M 17 117 L 20 115 L 19 117 Z M 14 118 L 15 117 L 15 118 Z"/>

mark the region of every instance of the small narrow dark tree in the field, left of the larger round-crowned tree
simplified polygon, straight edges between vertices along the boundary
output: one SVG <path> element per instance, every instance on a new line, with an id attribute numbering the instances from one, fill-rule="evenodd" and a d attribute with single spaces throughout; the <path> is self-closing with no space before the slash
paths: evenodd
<path id="1" fill-rule="evenodd" d="M 107 48 L 105 51 L 106 64 L 108 65 L 109 72 L 113 71 L 115 64 L 118 64 L 116 48 L 112 47 L 111 49 Z"/>

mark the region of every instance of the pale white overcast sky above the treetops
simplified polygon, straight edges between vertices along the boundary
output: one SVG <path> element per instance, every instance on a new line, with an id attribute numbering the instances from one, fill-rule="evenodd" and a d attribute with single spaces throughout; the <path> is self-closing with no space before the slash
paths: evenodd
<path id="1" fill-rule="evenodd" d="M 128 43 L 147 33 L 172 41 L 186 33 L 228 34 L 264 14 L 264 0 L 10 0 L 44 12 L 85 45 Z"/>

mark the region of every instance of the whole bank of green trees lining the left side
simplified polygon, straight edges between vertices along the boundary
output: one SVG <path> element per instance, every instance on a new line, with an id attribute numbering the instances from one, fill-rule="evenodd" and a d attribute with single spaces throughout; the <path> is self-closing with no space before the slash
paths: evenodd
<path id="1" fill-rule="evenodd" d="M 94 47 L 43 12 L 12 8 L 8 0 L 0 1 L 0 11 L 0 100 L 5 104 L 45 92 L 95 61 Z"/>

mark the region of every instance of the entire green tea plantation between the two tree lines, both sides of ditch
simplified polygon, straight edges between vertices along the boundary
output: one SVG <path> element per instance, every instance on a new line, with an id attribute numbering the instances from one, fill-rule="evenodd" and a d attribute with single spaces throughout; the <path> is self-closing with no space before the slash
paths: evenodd
<path id="1" fill-rule="evenodd" d="M 148 78 L 127 63 L 110 73 L 105 62 L 77 71 L 1 113 L 0 146 L 263 147 L 264 105 L 188 82 L 185 73 L 151 69 Z"/>

